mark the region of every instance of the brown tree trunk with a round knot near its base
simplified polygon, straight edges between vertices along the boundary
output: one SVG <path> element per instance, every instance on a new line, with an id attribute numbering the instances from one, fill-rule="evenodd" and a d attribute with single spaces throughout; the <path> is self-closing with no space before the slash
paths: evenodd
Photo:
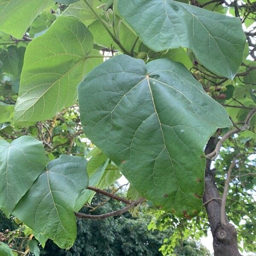
<path id="1" fill-rule="evenodd" d="M 215 148 L 216 138 L 210 138 L 205 154 L 209 154 Z M 207 160 L 205 170 L 205 191 L 203 201 L 219 198 L 218 188 L 215 183 L 214 169 L 210 169 L 211 161 Z M 205 204 L 209 224 L 213 236 L 213 249 L 215 256 L 241 256 L 237 245 L 237 233 L 235 227 L 228 223 L 221 226 L 221 200 L 212 200 Z"/>

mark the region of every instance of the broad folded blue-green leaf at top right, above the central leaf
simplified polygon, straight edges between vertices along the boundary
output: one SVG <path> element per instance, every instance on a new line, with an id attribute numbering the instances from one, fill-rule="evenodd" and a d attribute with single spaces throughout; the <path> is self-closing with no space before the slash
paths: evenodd
<path id="1" fill-rule="evenodd" d="M 245 44 L 239 18 L 174 0 L 119 0 L 118 9 L 154 51 L 190 48 L 212 72 L 230 79 L 236 75 Z"/>

